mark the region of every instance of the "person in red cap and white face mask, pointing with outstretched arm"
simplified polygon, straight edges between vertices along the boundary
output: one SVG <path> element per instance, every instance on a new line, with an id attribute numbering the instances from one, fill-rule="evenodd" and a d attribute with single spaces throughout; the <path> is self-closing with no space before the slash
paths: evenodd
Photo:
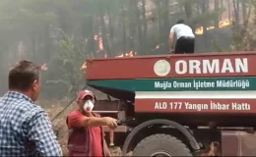
<path id="1" fill-rule="evenodd" d="M 116 119 L 102 117 L 93 113 L 95 95 L 92 91 L 82 90 L 77 97 L 78 110 L 67 118 L 70 130 L 68 138 L 69 156 L 110 156 L 103 137 L 101 126 L 110 129 L 117 127 Z"/>

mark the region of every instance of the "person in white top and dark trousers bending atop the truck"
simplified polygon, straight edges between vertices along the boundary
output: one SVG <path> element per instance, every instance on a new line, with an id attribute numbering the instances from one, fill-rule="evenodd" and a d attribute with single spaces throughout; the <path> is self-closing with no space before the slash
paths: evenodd
<path id="1" fill-rule="evenodd" d="M 176 35 L 177 41 L 175 50 L 173 49 L 173 38 Z M 183 54 L 194 53 L 195 49 L 195 35 L 190 26 L 184 24 L 184 20 L 178 20 L 175 26 L 170 28 L 169 33 L 170 53 Z"/>

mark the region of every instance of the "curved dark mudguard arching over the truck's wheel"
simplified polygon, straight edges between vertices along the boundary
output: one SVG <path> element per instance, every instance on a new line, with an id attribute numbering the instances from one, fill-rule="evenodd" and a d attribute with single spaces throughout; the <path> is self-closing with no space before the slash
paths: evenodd
<path id="1" fill-rule="evenodd" d="M 150 121 L 146 121 L 144 123 L 142 123 L 141 125 L 137 126 L 136 128 L 133 129 L 133 131 L 131 131 L 129 133 L 129 135 L 126 137 L 124 145 L 123 145 L 123 156 L 126 156 L 127 153 L 127 149 L 129 148 L 131 141 L 133 139 L 133 137 L 141 130 L 152 126 L 152 125 L 164 125 L 164 126 L 171 126 L 173 128 L 175 128 L 178 131 L 181 131 L 186 138 L 188 139 L 191 147 L 194 149 L 194 151 L 197 151 L 200 149 L 200 146 L 198 144 L 198 142 L 196 141 L 196 139 L 194 138 L 194 136 L 187 131 L 183 126 L 179 125 L 178 123 L 169 121 L 169 120 L 164 120 L 164 119 L 157 119 L 157 120 L 150 120 Z"/>

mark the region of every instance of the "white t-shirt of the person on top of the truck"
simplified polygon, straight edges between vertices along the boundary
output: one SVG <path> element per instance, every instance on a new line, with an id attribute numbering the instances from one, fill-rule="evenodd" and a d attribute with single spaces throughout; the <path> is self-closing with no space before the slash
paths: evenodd
<path id="1" fill-rule="evenodd" d="M 181 36 L 195 37 L 192 28 L 184 24 L 177 24 L 172 26 L 170 32 L 174 32 L 177 36 L 177 39 Z"/>

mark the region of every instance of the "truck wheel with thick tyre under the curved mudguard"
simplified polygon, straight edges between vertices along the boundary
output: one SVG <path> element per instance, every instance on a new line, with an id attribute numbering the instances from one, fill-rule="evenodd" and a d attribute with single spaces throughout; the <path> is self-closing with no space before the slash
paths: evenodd
<path id="1" fill-rule="evenodd" d="M 133 156 L 193 156 L 187 146 L 168 134 L 153 134 L 140 141 Z"/>

